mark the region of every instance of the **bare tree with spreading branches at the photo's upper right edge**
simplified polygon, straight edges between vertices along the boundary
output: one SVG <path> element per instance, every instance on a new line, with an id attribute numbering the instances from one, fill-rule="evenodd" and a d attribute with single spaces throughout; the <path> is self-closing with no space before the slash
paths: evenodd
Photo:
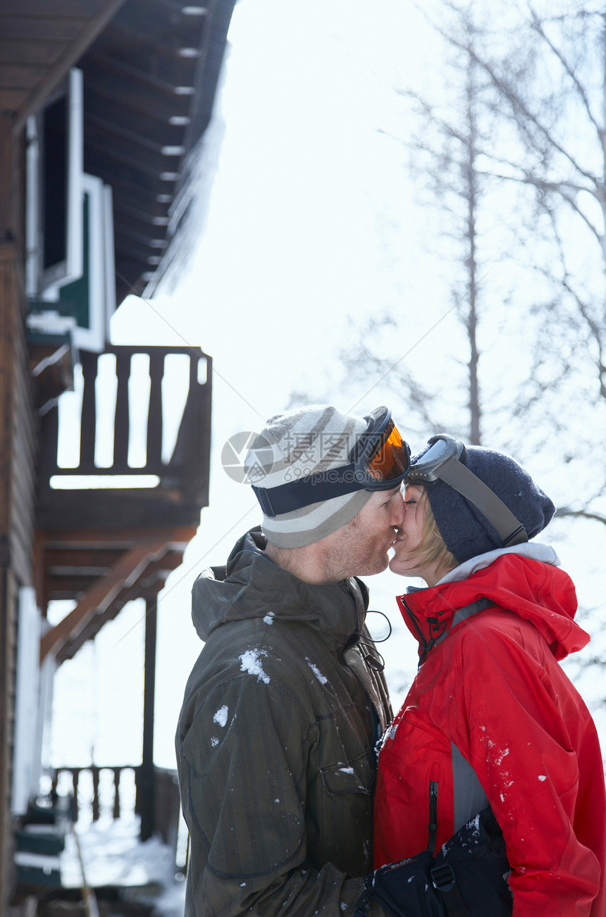
<path id="1" fill-rule="evenodd" d="M 468 5 L 446 0 L 465 21 Z M 543 331 L 556 323 L 571 347 L 551 348 L 554 384 L 589 371 L 606 401 L 606 10 L 567 2 L 513 5 L 512 25 L 479 42 L 438 26 L 494 90 L 497 129 L 483 171 L 518 183 L 534 201 L 534 270 L 554 293 L 539 304 Z M 547 243 L 545 245 L 545 240 Z M 562 342 L 560 342 L 562 343 Z M 575 360 L 570 363 L 570 353 Z M 538 348 L 537 362 L 543 358 Z M 564 360 L 559 359 L 562 355 Z"/>

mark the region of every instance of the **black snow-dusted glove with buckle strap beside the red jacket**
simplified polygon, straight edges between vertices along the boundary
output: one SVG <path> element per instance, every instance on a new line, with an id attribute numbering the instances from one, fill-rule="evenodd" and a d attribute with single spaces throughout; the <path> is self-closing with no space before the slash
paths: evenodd
<path id="1" fill-rule="evenodd" d="M 490 807 L 457 831 L 437 856 L 424 850 L 367 878 L 355 917 L 377 901 L 390 917 L 511 917 L 510 873 Z"/>

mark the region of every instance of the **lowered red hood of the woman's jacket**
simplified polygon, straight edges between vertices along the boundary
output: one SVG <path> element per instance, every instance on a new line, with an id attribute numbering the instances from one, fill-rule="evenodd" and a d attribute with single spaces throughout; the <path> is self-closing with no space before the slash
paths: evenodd
<path id="1" fill-rule="evenodd" d="M 404 622 L 420 644 L 422 660 L 450 629 L 457 610 L 481 599 L 534 624 L 556 659 L 589 643 L 589 635 L 574 621 L 577 593 L 567 573 L 551 563 L 504 552 L 467 579 L 440 582 L 398 597 Z"/>

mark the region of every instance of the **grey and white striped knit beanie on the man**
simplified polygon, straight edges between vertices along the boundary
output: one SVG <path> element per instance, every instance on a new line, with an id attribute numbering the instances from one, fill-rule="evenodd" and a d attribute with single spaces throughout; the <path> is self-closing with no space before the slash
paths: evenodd
<path id="1" fill-rule="evenodd" d="M 342 468 L 366 431 L 362 417 L 314 404 L 270 417 L 244 461 L 248 481 L 272 488 L 320 471 Z M 291 513 L 263 514 L 263 532 L 276 547 L 304 547 L 346 525 L 371 497 L 369 491 L 345 493 L 302 506 Z"/>

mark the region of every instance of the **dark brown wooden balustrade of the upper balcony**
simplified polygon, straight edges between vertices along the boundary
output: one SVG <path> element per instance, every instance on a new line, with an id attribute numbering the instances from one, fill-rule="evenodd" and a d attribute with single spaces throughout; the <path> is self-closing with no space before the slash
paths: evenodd
<path id="1" fill-rule="evenodd" d="M 113 460 L 104 468 L 95 464 L 95 450 L 101 431 L 97 425 L 99 360 L 116 358 L 116 412 Z M 145 461 L 128 463 L 131 400 L 129 387 L 133 358 L 149 358 L 149 405 Z M 162 379 L 166 360 L 182 355 L 189 360 L 189 392 L 171 458 L 161 456 L 162 430 L 168 418 L 166 401 L 162 409 Z M 42 417 L 39 464 L 39 511 L 41 529 L 132 529 L 166 525 L 197 525 L 200 510 L 208 505 L 208 476 L 211 416 L 211 359 L 193 348 L 108 347 L 105 354 L 83 352 L 83 399 L 80 427 L 72 436 L 80 439 L 78 463 L 71 468 L 58 462 L 59 411 L 55 407 Z M 202 373 L 201 373 L 202 370 Z M 202 374 L 202 380 L 201 380 Z M 169 407 L 170 410 L 170 407 Z M 88 487 L 57 490 L 50 486 L 61 478 L 94 476 L 105 478 L 103 489 Z M 112 479 L 155 476 L 158 485 L 149 488 L 113 488 Z M 83 497 L 85 496 L 85 499 Z"/>

